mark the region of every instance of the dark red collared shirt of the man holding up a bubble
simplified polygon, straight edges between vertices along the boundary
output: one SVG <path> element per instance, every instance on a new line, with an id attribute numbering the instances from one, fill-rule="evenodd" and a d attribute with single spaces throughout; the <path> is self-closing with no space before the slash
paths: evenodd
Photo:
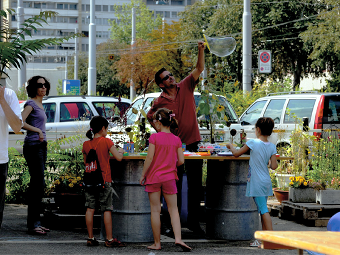
<path id="1" fill-rule="evenodd" d="M 178 120 L 178 131 L 175 135 L 179 136 L 182 142 L 192 144 L 200 141 L 198 128 L 196 103 L 193 92 L 196 87 L 196 81 L 192 74 L 187 76 L 181 82 L 176 84 L 176 97 L 174 100 L 162 92 L 158 98 L 153 101 L 151 109 L 147 113 L 147 119 L 153 123 L 152 116 L 160 108 L 167 108 L 176 114 Z"/>

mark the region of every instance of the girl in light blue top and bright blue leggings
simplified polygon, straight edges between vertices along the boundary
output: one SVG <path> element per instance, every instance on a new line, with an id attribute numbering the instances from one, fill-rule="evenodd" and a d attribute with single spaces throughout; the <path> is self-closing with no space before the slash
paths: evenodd
<path id="1" fill-rule="evenodd" d="M 249 172 L 247 176 L 246 196 L 253 197 L 258 213 L 261 215 L 262 229 L 272 230 L 272 222 L 269 215 L 267 200 L 272 195 L 272 185 L 268 170 L 277 168 L 276 147 L 268 141 L 274 128 L 272 118 L 259 118 L 255 124 L 255 134 L 257 139 L 249 140 L 242 148 L 236 150 L 232 144 L 227 144 L 235 157 L 243 155 L 250 149 Z M 271 162 L 271 163 L 270 163 Z M 256 240 L 250 246 L 259 246 Z"/>

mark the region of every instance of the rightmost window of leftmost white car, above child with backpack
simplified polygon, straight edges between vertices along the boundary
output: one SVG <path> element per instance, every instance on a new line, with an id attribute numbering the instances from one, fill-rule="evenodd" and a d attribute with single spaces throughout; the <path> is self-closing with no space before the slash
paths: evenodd
<path id="1" fill-rule="evenodd" d="M 100 116 L 111 118 L 112 116 L 119 116 L 120 112 L 124 114 L 130 106 L 126 102 L 93 102 L 94 107 Z"/>

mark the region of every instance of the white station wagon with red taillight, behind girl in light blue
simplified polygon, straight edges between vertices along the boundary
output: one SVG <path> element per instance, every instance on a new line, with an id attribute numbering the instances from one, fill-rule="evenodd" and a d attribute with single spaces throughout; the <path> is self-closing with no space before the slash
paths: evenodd
<path id="1" fill-rule="evenodd" d="M 240 124 L 247 138 L 255 138 L 255 123 L 259 117 L 271 117 L 275 122 L 270 141 L 277 147 L 289 144 L 290 132 L 295 129 L 294 113 L 298 118 L 307 117 L 311 134 L 321 137 L 322 130 L 335 125 L 340 127 L 340 93 L 319 93 L 317 91 L 296 91 L 268 94 L 257 99 L 240 117 Z M 338 128 L 339 129 L 339 128 Z M 285 130 L 284 137 L 277 130 Z M 314 131 L 313 131 L 314 130 Z"/>

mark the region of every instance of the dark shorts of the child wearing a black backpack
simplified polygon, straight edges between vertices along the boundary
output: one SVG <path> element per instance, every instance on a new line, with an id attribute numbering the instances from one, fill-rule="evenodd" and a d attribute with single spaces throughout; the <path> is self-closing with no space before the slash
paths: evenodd
<path id="1" fill-rule="evenodd" d="M 103 191 L 99 189 L 93 189 L 93 192 L 85 191 L 86 204 L 85 206 L 90 209 L 96 209 L 97 203 L 100 203 L 100 209 L 104 211 L 113 210 L 113 187 L 112 183 L 105 182 L 105 188 Z"/>

